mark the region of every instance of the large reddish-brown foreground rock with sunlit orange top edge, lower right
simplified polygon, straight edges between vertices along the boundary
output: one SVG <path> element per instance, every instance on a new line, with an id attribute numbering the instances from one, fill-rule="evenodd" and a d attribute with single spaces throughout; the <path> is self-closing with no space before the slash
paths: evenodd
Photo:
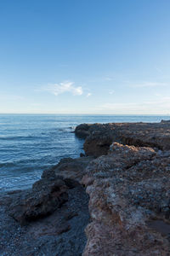
<path id="1" fill-rule="evenodd" d="M 82 183 L 92 218 L 84 256 L 170 255 L 169 151 L 113 143 Z"/>

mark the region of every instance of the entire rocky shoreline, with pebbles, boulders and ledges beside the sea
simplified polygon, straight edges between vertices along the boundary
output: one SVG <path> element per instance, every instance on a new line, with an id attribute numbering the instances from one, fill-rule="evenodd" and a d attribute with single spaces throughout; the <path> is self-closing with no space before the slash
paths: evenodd
<path id="1" fill-rule="evenodd" d="M 0 255 L 170 255 L 170 122 L 75 134 L 85 156 L 1 195 Z"/>

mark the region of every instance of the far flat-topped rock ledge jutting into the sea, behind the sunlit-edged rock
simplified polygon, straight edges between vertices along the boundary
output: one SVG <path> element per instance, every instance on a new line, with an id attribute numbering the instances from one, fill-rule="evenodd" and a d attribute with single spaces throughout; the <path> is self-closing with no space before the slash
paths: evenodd
<path id="1" fill-rule="evenodd" d="M 137 147 L 170 149 L 169 122 L 161 123 L 111 123 L 78 125 L 77 137 L 86 137 L 84 151 L 86 155 L 107 154 L 111 143 L 117 142 Z"/>

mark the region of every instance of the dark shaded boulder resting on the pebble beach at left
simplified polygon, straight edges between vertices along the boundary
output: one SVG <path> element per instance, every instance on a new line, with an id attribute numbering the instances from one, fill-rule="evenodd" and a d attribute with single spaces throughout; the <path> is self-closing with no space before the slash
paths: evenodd
<path id="1" fill-rule="evenodd" d="M 68 199 L 66 183 L 62 177 L 55 180 L 41 179 L 32 189 L 14 198 L 8 214 L 20 224 L 34 221 L 54 212 Z"/>

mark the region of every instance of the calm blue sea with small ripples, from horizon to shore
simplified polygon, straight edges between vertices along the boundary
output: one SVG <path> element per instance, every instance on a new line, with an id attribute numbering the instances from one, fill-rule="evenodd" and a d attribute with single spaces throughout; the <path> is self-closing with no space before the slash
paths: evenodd
<path id="1" fill-rule="evenodd" d="M 161 119 L 170 116 L 0 114 L 0 191 L 29 188 L 61 158 L 79 156 L 76 125 Z"/>

